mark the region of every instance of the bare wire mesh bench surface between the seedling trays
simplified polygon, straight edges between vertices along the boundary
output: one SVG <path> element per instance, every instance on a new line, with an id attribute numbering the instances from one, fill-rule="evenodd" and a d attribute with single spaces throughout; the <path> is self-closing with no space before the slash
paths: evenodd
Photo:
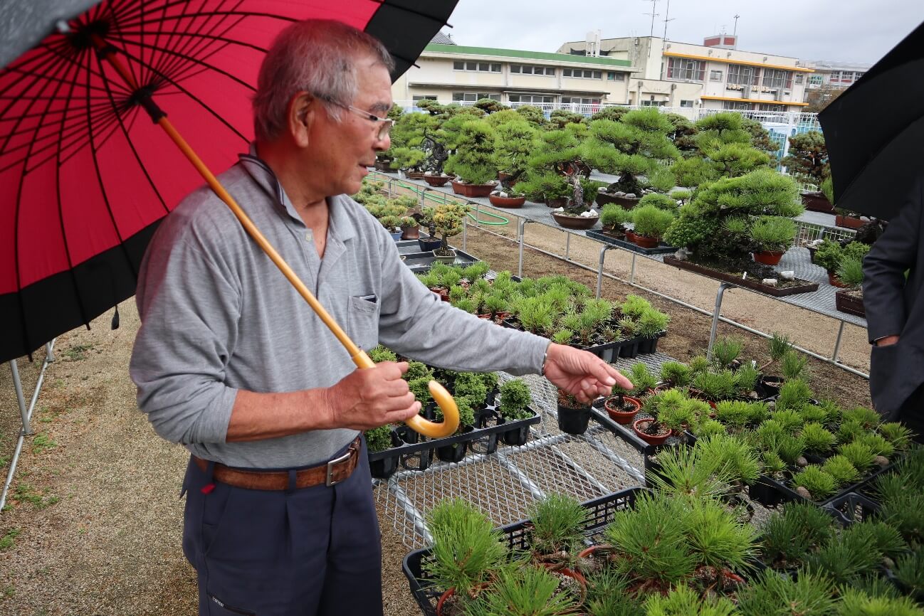
<path id="1" fill-rule="evenodd" d="M 620 359 L 628 368 L 642 361 L 659 368 L 663 354 Z M 511 379 L 501 373 L 502 380 Z M 497 453 L 469 454 L 462 462 L 436 463 L 425 471 L 401 471 L 387 482 L 376 480 L 375 499 L 383 519 L 394 525 L 404 544 L 416 549 L 430 542 L 424 521 L 437 502 L 463 498 L 477 505 L 496 525 L 527 517 L 529 505 L 552 492 L 587 501 L 641 484 L 641 456 L 612 433 L 591 423 L 581 435 L 564 434 L 555 420 L 555 387 L 542 377 L 523 377 L 542 421 L 522 447 L 501 446 Z"/>

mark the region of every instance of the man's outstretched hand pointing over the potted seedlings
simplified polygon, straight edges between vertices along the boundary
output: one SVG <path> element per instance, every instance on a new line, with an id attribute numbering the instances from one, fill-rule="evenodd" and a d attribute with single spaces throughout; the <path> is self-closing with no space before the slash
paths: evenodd
<path id="1" fill-rule="evenodd" d="M 549 345 L 545 378 L 585 405 L 612 393 L 614 385 L 632 389 L 632 383 L 600 357 L 565 344 Z"/>

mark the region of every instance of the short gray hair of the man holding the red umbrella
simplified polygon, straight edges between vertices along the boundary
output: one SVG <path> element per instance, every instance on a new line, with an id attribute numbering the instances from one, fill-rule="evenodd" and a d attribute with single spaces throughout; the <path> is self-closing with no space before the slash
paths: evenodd
<path id="1" fill-rule="evenodd" d="M 395 60 L 382 42 L 362 30 L 332 19 L 306 19 L 282 30 L 260 66 L 253 96 L 253 127 L 257 139 L 272 140 L 286 127 L 292 96 L 308 91 L 326 103 L 349 104 L 356 97 L 356 61 L 371 55 L 395 69 Z M 327 104 L 334 119 L 340 108 Z"/>

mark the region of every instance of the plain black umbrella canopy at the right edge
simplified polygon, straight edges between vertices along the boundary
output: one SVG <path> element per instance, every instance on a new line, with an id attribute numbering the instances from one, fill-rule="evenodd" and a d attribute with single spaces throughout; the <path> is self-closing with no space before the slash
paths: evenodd
<path id="1" fill-rule="evenodd" d="M 924 24 L 819 115 L 839 208 L 890 220 L 924 173 Z"/>

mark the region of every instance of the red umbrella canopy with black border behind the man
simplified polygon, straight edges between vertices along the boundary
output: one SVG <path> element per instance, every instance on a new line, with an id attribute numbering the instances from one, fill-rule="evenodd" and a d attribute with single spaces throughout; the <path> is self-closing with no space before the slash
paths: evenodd
<path id="1" fill-rule="evenodd" d="M 202 184 L 91 34 L 224 170 L 252 139 L 249 101 L 279 30 L 344 21 L 383 41 L 396 79 L 456 0 L 111 0 L 79 12 L 88 4 L 0 6 L 0 58 L 15 58 L 0 70 L 0 361 L 134 295 L 157 223 Z"/>

